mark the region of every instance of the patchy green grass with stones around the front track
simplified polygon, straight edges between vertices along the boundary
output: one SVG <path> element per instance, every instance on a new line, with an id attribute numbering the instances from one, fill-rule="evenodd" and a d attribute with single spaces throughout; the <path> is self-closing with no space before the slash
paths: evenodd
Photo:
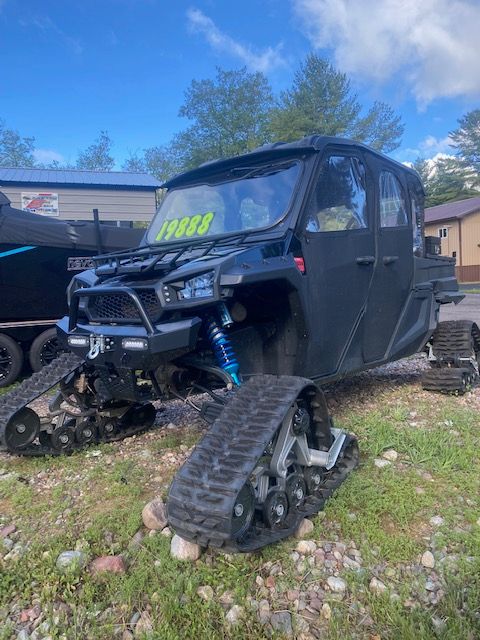
<path id="1" fill-rule="evenodd" d="M 327 596 L 333 615 L 319 622 L 322 639 L 480 637 L 477 410 L 462 398 L 428 395 L 414 384 L 380 391 L 368 405 L 350 397 L 340 406 L 337 422 L 357 435 L 361 464 L 329 501 L 323 517 L 314 518 L 312 537 L 354 541 L 363 565 L 360 571 L 342 573 L 348 583 L 344 600 Z M 86 570 L 58 573 L 58 554 L 75 546 L 91 558 L 125 551 L 141 526 L 143 505 L 164 495 L 180 464 L 172 456 L 198 437 L 194 429 L 164 429 L 100 447 L 98 457 L 86 451 L 61 459 L 0 459 L 0 467 L 14 474 L 0 479 L 0 513 L 4 522 L 17 525 L 16 539 L 28 543 L 17 560 L 0 560 L 0 640 L 18 632 L 5 624 L 6 613 L 13 605 L 18 611 L 30 607 L 35 598 L 46 617 L 56 620 L 49 632 L 54 639 L 110 640 L 128 628 L 136 611 L 150 613 L 154 638 L 260 639 L 266 630 L 248 599 L 261 599 L 255 578 L 267 575 L 266 563 L 283 567 L 277 578 L 279 595 L 307 583 L 324 585 L 321 572 L 306 571 L 299 578 L 291 559 L 294 539 L 247 556 L 207 552 L 197 563 L 184 564 L 170 557 L 169 539 L 156 534 L 146 536 L 137 552 L 128 552 L 125 574 L 98 579 Z M 389 448 L 398 452 L 398 460 L 377 468 L 375 458 Z M 434 515 L 443 518 L 436 529 L 430 524 Z M 425 572 L 408 569 L 432 540 L 436 550 L 457 558 L 454 570 L 447 563 L 435 569 L 444 591 L 436 605 L 422 600 Z M 372 575 L 387 584 L 387 593 L 369 591 Z M 196 594 L 205 584 L 214 589 L 212 602 Z M 218 603 L 225 591 L 245 607 L 245 618 L 235 629 L 226 624 Z M 281 602 L 272 608 L 284 608 Z M 69 618 L 62 613 L 67 610 Z"/>

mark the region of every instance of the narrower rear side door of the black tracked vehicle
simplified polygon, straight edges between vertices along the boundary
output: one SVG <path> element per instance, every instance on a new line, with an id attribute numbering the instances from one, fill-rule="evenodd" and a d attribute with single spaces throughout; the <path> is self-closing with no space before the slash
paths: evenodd
<path id="1" fill-rule="evenodd" d="M 366 363 L 388 358 L 412 288 L 413 228 L 404 177 L 375 162 L 376 263 L 365 316 Z"/>

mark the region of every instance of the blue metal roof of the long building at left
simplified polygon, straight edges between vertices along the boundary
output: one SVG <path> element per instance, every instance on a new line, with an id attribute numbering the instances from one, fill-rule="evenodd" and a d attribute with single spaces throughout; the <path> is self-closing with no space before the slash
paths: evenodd
<path id="1" fill-rule="evenodd" d="M 8 183 L 69 186 L 138 187 L 158 189 L 161 183 L 148 173 L 80 171 L 78 169 L 22 169 L 0 167 L 0 185 Z"/>

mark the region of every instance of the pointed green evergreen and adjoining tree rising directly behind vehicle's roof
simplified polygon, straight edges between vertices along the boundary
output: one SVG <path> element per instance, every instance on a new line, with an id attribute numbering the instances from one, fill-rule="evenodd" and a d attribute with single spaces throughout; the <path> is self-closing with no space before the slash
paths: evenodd
<path id="1" fill-rule="evenodd" d="M 271 138 L 285 142 L 321 134 L 353 138 L 386 152 L 400 145 L 404 125 L 390 106 L 375 102 L 366 115 L 361 112 L 346 74 L 310 54 L 271 110 L 268 130 Z"/>

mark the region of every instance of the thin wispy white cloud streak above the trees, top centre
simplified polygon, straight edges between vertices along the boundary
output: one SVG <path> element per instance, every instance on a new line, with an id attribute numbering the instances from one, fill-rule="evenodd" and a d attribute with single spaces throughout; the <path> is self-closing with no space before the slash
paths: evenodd
<path id="1" fill-rule="evenodd" d="M 223 33 L 200 9 L 189 9 L 187 19 L 190 29 L 201 33 L 212 49 L 239 58 L 252 71 L 268 73 L 286 65 L 286 60 L 281 54 L 281 44 L 256 52 L 250 46 L 241 44 Z"/>

